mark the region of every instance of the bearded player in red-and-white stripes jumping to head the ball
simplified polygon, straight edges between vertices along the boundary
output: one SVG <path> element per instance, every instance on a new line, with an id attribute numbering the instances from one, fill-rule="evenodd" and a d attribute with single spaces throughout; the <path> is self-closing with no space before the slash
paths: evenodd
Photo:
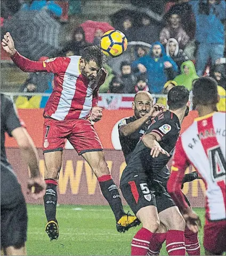
<path id="1" fill-rule="evenodd" d="M 100 139 L 91 122 L 102 117 L 102 108 L 97 106 L 98 91 L 106 72 L 102 68 L 103 53 L 100 48 L 89 46 L 84 49 L 82 56 L 31 61 L 15 50 L 9 32 L 4 35 L 2 46 L 22 71 L 54 73 L 53 92 L 43 113 L 43 152 L 47 184 L 44 204 L 48 221 L 46 232 L 50 239 L 58 239 L 59 235 L 55 216 L 58 199 L 56 186 L 66 138 L 98 177 L 103 196 L 115 214 L 117 230 L 124 232 L 135 226 L 138 220 L 123 210 L 118 188 L 109 173 Z"/>

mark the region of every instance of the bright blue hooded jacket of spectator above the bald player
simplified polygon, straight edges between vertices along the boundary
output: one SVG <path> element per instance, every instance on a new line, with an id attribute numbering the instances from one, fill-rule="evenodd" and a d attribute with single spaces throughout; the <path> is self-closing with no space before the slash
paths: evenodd
<path id="1" fill-rule="evenodd" d="M 160 58 L 154 58 L 152 53 L 153 45 L 159 44 L 162 48 L 162 55 Z M 138 70 L 138 64 L 143 64 L 147 68 L 147 78 L 148 78 L 148 87 L 149 91 L 152 94 L 160 94 L 163 90 L 164 84 L 168 80 L 173 80 L 173 77 L 168 77 L 168 72 L 177 73 L 178 67 L 176 63 L 170 56 L 166 55 L 164 46 L 160 42 L 155 42 L 152 44 L 150 49 L 150 55 L 139 58 L 138 60 L 133 61 L 132 69 L 134 72 Z M 173 66 L 171 68 L 164 68 L 164 62 L 169 61 Z"/>

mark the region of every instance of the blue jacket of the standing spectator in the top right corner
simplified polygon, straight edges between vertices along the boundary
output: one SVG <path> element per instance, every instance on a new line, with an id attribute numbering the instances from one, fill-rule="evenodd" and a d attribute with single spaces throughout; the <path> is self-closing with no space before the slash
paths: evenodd
<path id="1" fill-rule="evenodd" d="M 205 3 L 206 1 L 204 1 Z M 199 43 L 224 44 L 225 1 L 209 4 L 209 15 L 199 13 L 199 1 L 190 1 L 196 18 L 196 40 Z"/>

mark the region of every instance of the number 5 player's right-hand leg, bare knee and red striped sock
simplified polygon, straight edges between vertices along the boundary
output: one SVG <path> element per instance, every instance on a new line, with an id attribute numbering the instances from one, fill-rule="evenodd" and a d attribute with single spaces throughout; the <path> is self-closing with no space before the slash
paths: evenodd
<path id="1" fill-rule="evenodd" d="M 166 233 L 166 250 L 168 255 L 185 255 L 185 221 L 178 207 L 173 206 L 160 212 L 159 219 L 168 230 Z"/>

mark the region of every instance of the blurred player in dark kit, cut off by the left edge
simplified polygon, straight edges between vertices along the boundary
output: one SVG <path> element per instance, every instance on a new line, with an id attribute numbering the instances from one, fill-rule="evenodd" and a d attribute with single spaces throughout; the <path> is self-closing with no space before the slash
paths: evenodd
<path id="1" fill-rule="evenodd" d="M 1 94 L 1 250 L 4 255 L 26 255 L 27 208 L 17 176 L 7 161 L 5 133 L 16 139 L 22 158 L 29 166 L 29 192 L 35 199 L 42 198 L 46 184 L 39 172 L 37 150 L 12 100 Z"/>

